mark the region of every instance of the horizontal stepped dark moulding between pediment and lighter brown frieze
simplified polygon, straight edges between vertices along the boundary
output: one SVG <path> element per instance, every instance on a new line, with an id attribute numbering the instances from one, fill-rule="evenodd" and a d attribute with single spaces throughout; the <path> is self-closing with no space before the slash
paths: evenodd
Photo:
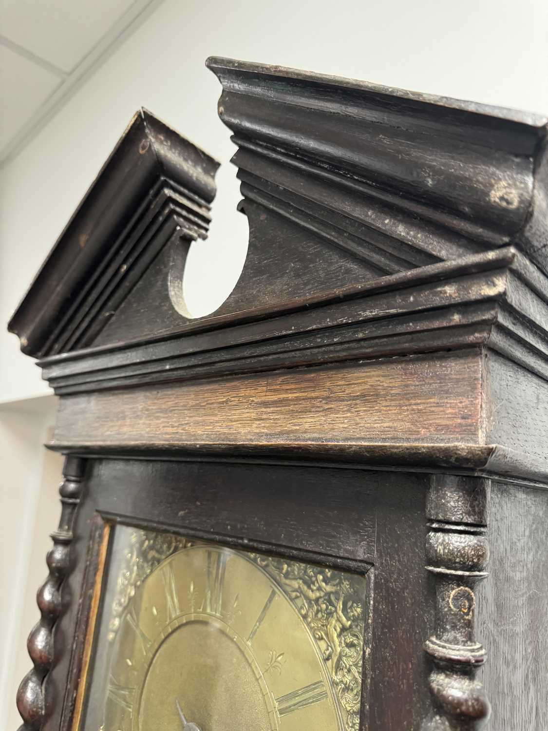
<path id="1" fill-rule="evenodd" d="M 506 247 L 384 277 L 257 322 L 83 349 L 39 366 L 66 395 L 486 346 L 548 380 L 547 322 L 547 278 Z"/>

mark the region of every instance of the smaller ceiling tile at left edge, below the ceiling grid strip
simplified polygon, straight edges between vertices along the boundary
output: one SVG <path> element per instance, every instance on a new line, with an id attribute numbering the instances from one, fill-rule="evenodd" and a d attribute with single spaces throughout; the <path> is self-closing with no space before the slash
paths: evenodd
<path id="1" fill-rule="evenodd" d="M 0 45 L 0 150 L 59 83 L 58 76 Z"/>

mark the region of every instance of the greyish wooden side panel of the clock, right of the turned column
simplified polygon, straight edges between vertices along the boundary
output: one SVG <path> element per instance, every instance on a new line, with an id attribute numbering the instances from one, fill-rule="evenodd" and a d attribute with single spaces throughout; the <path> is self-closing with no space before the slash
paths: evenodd
<path id="1" fill-rule="evenodd" d="M 546 727 L 547 521 L 546 489 L 492 483 L 490 575 L 479 590 L 478 632 L 489 648 L 484 685 L 493 731 Z"/>

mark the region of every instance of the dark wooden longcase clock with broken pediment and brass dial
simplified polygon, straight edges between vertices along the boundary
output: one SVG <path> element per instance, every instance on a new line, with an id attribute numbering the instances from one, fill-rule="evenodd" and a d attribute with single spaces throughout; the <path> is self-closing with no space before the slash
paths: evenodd
<path id="1" fill-rule="evenodd" d="M 66 455 L 21 731 L 545 729 L 547 120 L 208 66 L 229 298 L 217 163 L 140 110 L 9 325 Z"/>

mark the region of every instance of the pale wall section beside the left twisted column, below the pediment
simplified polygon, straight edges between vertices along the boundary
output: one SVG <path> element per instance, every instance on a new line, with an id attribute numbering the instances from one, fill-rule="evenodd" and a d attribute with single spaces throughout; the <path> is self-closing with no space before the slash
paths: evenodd
<path id="1" fill-rule="evenodd" d="M 15 694 L 31 668 L 26 636 L 39 619 L 36 592 L 60 513 L 63 458 L 42 448 L 55 405 L 45 396 L 0 406 L 0 729 L 20 723 Z"/>

